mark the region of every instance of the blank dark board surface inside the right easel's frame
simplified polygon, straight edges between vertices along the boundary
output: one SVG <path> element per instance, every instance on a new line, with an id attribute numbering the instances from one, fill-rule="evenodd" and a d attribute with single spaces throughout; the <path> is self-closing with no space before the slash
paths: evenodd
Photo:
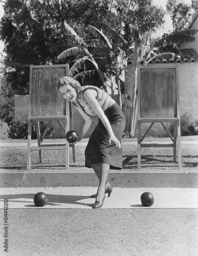
<path id="1" fill-rule="evenodd" d="M 175 69 L 140 70 L 140 117 L 177 117 Z"/>

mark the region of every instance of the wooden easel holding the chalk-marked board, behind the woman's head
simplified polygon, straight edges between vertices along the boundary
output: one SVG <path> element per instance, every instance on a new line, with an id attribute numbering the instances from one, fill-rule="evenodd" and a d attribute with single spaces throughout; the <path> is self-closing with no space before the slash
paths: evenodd
<path id="1" fill-rule="evenodd" d="M 69 169 L 69 146 L 72 146 L 73 161 L 76 161 L 75 146 L 64 144 L 42 144 L 51 124 L 56 121 L 65 131 L 73 130 L 71 102 L 63 99 L 56 91 L 56 84 L 63 76 L 69 76 L 69 65 L 30 66 L 30 93 L 28 116 L 27 170 L 31 167 L 31 151 L 38 151 L 42 163 L 43 150 L 65 150 L 65 169 Z M 71 122 L 70 122 L 71 120 Z M 47 121 L 43 134 L 40 134 L 39 123 Z M 38 146 L 31 146 L 32 123 L 36 127 Z"/>

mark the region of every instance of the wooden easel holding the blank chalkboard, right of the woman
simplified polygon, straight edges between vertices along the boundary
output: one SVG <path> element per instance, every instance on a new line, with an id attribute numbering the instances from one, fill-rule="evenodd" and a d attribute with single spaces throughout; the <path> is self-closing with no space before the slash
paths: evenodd
<path id="1" fill-rule="evenodd" d="M 141 147 L 173 147 L 173 162 L 181 169 L 181 132 L 178 65 L 148 65 L 138 67 L 138 169 L 141 168 Z M 152 125 L 161 123 L 170 143 L 142 143 Z M 151 123 L 141 135 L 141 124 Z M 173 123 L 173 137 L 164 123 Z"/>

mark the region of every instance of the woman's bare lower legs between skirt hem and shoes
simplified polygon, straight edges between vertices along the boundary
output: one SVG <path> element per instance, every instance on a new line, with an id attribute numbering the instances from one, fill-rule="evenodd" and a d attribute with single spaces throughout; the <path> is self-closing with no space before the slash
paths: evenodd
<path id="1" fill-rule="evenodd" d="M 96 166 L 97 165 L 97 166 Z M 108 172 L 109 172 L 109 164 L 107 163 L 99 163 L 99 164 L 94 164 L 92 165 L 94 172 L 96 170 L 96 175 L 99 178 L 99 187 L 98 187 L 98 192 L 97 192 L 97 198 L 96 201 L 100 202 L 102 201 L 104 197 L 104 190 L 105 190 L 105 185 L 107 184 L 107 177 L 108 177 Z"/>

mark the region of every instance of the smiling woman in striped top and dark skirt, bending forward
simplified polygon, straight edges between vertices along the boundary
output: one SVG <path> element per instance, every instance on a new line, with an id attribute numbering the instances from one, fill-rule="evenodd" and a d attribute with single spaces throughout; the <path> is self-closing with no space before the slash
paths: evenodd
<path id="1" fill-rule="evenodd" d="M 93 124 L 92 117 L 99 122 L 85 149 L 85 166 L 93 168 L 99 179 L 94 208 L 103 205 L 105 194 L 112 193 L 107 182 L 109 169 L 122 168 L 121 138 L 125 119 L 120 106 L 104 91 L 94 86 L 80 86 L 71 77 L 62 77 L 57 90 L 63 98 L 71 101 L 85 120 L 78 142 L 86 135 Z"/>

